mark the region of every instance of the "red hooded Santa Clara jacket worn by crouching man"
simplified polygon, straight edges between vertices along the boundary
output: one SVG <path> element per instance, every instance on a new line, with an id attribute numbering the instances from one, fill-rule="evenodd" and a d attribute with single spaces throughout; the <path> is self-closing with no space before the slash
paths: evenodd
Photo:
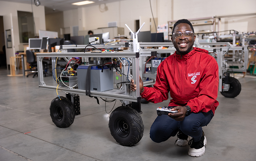
<path id="1" fill-rule="evenodd" d="M 215 112 L 219 102 L 219 71 L 217 61 L 207 50 L 194 48 L 185 55 L 176 52 L 157 68 L 156 83 L 153 88 L 144 87 L 142 98 L 159 103 L 168 99 L 169 106 L 189 105 L 191 112 Z"/>

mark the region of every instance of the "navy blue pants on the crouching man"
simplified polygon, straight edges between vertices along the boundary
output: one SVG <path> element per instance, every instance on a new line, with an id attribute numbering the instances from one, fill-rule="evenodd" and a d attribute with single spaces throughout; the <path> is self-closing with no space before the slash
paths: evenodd
<path id="1" fill-rule="evenodd" d="M 202 136 L 202 126 L 206 126 L 213 118 L 213 111 L 191 113 L 183 121 L 176 121 L 168 115 L 157 116 L 150 128 L 150 138 L 156 143 L 161 143 L 174 137 L 179 130 L 191 136 L 198 142 Z"/>

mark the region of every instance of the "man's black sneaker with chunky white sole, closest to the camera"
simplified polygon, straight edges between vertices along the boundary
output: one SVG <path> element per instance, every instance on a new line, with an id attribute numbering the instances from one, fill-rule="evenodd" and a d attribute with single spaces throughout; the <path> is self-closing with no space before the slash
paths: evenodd
<path id="1" fill-rule="evenodd" d="M 192 142 L 192 143 L 191 143 Z M 193 140 L 191 140 L 189 142 L 189 151 L 188 151 L 188 155 L 192 156 L 192 157 L 200 157 L 204 154 L 205 152 L 205 145 L 206 145 L 207 141 L 206 141 L 206 137 L 204 136 L 204 132 L 202 134 L 201 140 L 199 142 L 193 142 Z"/>

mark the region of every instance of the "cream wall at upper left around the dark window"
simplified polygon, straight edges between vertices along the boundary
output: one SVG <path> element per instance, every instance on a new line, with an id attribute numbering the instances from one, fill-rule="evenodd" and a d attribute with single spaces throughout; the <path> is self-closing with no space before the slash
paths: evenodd
<path id="1" fill-rule="evenodd" d="M 23 50 L 23 45 L 20 44 L 20 36 L 19 36 L 19 26 L 18 26 L 18 12 L 17 11 L 25 11 L 25 12 L 32 12 L 31 4 L 24 4 L 24 3 L 13 3 L 13 2 L 6 2 L 0 1 L 0 15 L 4 16 L 7 14 L 12 14 L 12 21 L 13 21 L 13 33 L 14 33 L 14 43 L 15 51 Z M 35 6 L 33 4 L 33 12 L 34 12 L 34 20 L 36 26 L 36 35 L 39 36 L 39 30 L 45 30 L 45 14 L 44 14 L 44 6 Z M 9 57 L 14 56 L 15 53 L 7 53 L 6 50 L 6 60 L 7 64 L 10 64 Z"/>

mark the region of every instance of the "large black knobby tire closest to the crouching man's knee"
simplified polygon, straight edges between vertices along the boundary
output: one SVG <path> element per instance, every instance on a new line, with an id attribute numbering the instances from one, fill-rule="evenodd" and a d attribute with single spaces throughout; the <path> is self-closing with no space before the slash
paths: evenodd
<path id="1" fill-rule="evenodd" d="M 123 146 L 137 144 L 144 132 L 141 116 L 127 106 L 120 106 L 111 113 L 108 127 L 113 138 Z"/>

